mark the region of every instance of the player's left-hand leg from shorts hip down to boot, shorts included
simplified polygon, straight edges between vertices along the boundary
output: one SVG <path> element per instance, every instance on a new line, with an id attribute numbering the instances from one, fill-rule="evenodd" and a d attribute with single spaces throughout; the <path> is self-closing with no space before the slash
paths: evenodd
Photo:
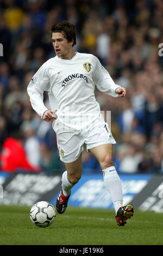
<path id="1" fill-rule="evenodd" d="M 79 130 L 67 128 L 57 121 L 54 126 L 57 134 L 59 157 L 65 163 L 66 171 L 61 177 L 61 191 L 56 201 L 59 213 L 64 213 L 70 197 L 71 189 L 82 175 L 82 151 L 84 140 Z"/>

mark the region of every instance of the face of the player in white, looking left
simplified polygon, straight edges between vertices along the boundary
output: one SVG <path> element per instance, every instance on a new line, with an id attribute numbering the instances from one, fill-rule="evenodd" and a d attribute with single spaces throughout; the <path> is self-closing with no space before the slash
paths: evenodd
<path id="1" fill-rule="evenodd" d="M 54 46 L 55 53 L 59 58 L 69 58 L 70 52 L 72 51 L 72 42 L 68 42 L 62 33 L 53 32 L 52 42 Z"/>

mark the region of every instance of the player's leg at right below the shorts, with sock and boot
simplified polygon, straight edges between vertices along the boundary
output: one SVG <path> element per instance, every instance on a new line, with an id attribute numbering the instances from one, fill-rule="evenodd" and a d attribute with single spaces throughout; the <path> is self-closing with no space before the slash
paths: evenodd
<path id="1" fill-rule="evenodd" d="M 91 148 L 90 152 L 97 158 L 103 170 L 104 184 L 115 207 L 117 224 L 124 225 L 133 216 L 134 207 L 131 204 L 122 206 L 122 185 L 112 160 L 112 144 L 98 145 Z"/>

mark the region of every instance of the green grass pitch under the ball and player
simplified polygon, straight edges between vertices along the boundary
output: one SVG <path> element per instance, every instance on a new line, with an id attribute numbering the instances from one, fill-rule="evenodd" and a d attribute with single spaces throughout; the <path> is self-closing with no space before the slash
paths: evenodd
<path id="1" fill-rule="evenodd" d="M 53 224 L 38 228 L 30 207 L 0 206 L 0 245 L 163 245 L 163 213 L 134 211 L 118 227 L 112 210 L 68 206 Z"/>

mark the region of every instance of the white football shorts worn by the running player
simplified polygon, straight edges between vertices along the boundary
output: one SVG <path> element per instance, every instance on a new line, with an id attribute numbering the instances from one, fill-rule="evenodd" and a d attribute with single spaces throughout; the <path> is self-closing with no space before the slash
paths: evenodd
<path id="1" fill-rule="evenodd" d="M 53 129 L 57 135 L 57 146 L 60 160 L 64 163 L 72 163 L 77 160 L 86 147 L 90 148 L 103 144 L 116 144 L 111 134 L 108 123 L 102 114 L 93 122 L 92 126 L 83 129 L 66 128 L 57 119 Z"/>

